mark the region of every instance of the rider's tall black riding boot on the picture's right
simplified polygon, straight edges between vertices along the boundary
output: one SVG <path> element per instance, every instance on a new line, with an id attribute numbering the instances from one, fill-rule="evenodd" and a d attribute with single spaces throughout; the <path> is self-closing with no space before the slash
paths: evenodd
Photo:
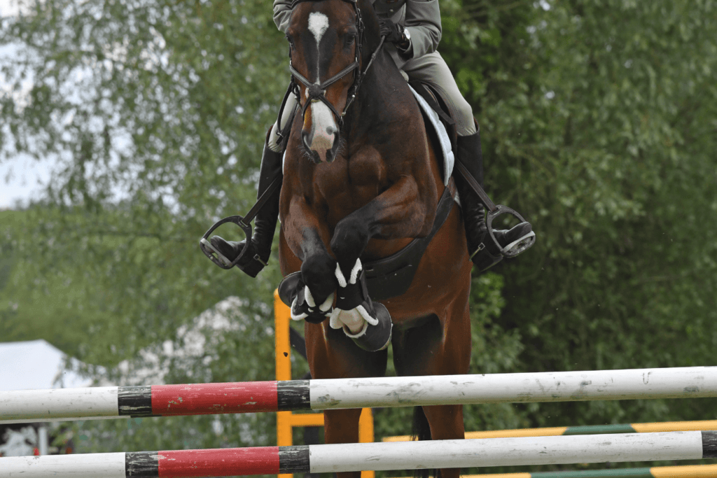
<path id="1" fill-rule="evenodd" d="M 480 130 L 468 136 L 458 136 L 457 161 L 483 186 L 483 153 L 480 150 Z M 478 270 L 485 270 L 498 264 L 503 259 L 501 249 L 495 245 L 488 227 L 485 225 L 485 209 L 478 194 L 465 181 L 460 173 L 454 173 L 455 183 L 460 194 L 460 206 L 463 212 L 465 235 L 468 242 L 468 253 Z M 511 247 L 524 237 L 532 235 L 532 227 L 528 222 L 521 222 L 510 230 L 494 230 L 495 240 L 500 248 Z"/>

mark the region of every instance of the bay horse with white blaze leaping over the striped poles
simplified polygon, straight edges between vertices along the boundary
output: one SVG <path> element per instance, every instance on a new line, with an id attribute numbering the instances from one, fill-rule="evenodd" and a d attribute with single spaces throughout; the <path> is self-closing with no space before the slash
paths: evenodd
<path id="1" fill-rule="evenodd" d="M 285 277 L 300 272 L 308 302 L 325 311 L 361 261 L 429 234 L 446 186 L 417 101 L 381 48 L 369 0 L 295 1 L 287 38 L 300 107 L 285 155 L 279 260 Z M 399 375 L 467 373 L 471 267 L 460 209 L 452 207 L 408 290 L 380 300 L 393 322 Z M 343 328 L 323 318 L 305 322 L 313 378 L 384 375 L 386 349 L 363 350 L 350 338 L 360 315 L 345 315 Z M 462 406 L 420 408 L 419 438 L 464 438 Z M 360 414 L 324 411 L 326 443 L 356 443 Z M 439 473 L 457 478 L 459 469 Z"/>

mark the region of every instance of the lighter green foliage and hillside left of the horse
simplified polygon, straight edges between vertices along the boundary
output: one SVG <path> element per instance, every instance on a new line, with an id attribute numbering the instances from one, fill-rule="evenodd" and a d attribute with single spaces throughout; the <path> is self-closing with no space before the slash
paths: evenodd
<path id="1" fill-rule="evenodd" d="M 85 372 L 100 383 L 138 381 L 154 366 L 146 353 L 169 383 L 273 378 L 275 259 L 252 280 L 218 269 L 197 244 L 255 198 L 288 82 L 271 9 L 51 0 L 25 11 L 0 31 L 17 49 L 0 65 L 17 92 L 0 103 L 4 161 L 29 153 L 59 166 L 47 199 L 0 218 L 0 340 L 44 338 L 92 364 Z M 241 327 L 181 363 L 167 352 L 191 347 L 178 330 L 237 295 Z M 275 441 L 274 421 L 85 422 L 65 436 L 77 451 L 252 446 Z"/>

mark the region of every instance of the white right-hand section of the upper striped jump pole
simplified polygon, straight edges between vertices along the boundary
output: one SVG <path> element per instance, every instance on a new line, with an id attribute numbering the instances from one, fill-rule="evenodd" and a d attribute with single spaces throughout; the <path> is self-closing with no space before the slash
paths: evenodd
<path id="1" fill-rule="evenodd" d="M 310 381 L 314 410 L 717 396 L 717 367 Z"/>

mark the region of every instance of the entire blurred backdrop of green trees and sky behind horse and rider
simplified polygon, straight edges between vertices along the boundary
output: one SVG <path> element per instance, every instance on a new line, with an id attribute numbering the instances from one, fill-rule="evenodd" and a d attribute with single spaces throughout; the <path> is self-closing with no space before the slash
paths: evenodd
<path id="1" fill-rule="evenodd" d="M 250 279 L 197 244 L 255 199 L 289 80 L 270 2 L 1 6 L 0 346 L 62 357 L 21 375 L 54 367 L 33 388 L 68 373 L 273 379 L 276 254 Z M 439 51 L 480 123 L 486 189 L 538 234 L 518 259 L 474 272 L 472 373 L 717 365 L 717 3 L 440 6 Z M 2 389 L 30 359 L 0 360 Z M 296 358 L 294 376 L 306 370 Z M 376 439 L 410 432 L 409 409 L 374 414 Z M 465 425 L 716 415 L 708 398 L 503 404 L 466 407 Z M 51 436 L 57 452 L 276 439 L 271 414 L 68 422 Z"/>

